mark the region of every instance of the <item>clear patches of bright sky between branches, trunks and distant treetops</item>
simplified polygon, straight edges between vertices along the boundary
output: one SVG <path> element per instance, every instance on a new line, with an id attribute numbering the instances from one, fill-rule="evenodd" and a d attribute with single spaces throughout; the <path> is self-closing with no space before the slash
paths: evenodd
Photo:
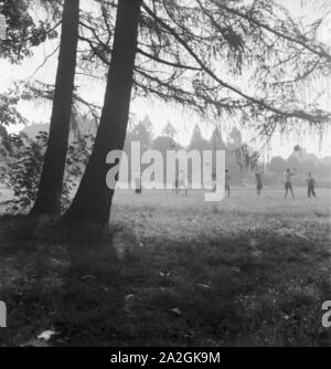
<path id="1" fill-rule="evenodd" d="M 82 3 L 88 3 L 90 0 L 82 0 Z M 313 6 L 308 8 L 301 7 L 301 0 L 278 0 L 287 7 L 293 17 L 307 17 L 313 19 L 313 14 L 317 10 Z M 313 3 L 313 1 L 312 1 Z M 331 22 L 330 22 L 331 23 Z M 331 46 L 331 25 L 330 29 L 325 29 L 321 35 L 323 42 Z M 1 42 L 1 41 L 0 41 Z M 43 63 L 46 55 L 49 55 L 57 45 L 57 41 L 47 42 L 34 51 L 34 56 L 25 60 L 21 65 L 11 65 L 9 62 L 0 61 L 0 92 L 7 89 L 14 81 L 33 81 L 33 78 L 54 84 L 57 53 L 55 53 L 41 70 L 39 66 Z M 331 81 L 330 81 L 331 82 Z M 104 86 L 99 83 L 90 83 L 84 81 L 79 84 L 79 91 L 86 99 L 92 103 L 102 105 L 104 99 Z M 36 104 L 21 104 L 20 110 L 28 118 L 29 123 L 49 123 L 51 106 L 45 106 L 38 102 Z M 209 137 L 213 130 L 213 123 L 201 122 L 196 116 L 190 112 L 183 110 L 181 107 L 167 106 L 166 104 L 156 102 L 154 99 L 135 99 L 131 105 L 131 113 L 137 119 L 141 119 L 145 115 L 149 115 L 154 128 L 154 134 L 158 135 L 162 131 L 167 122 L 170 122 L 178 131 L 177 139 L 186 145 L 190 141 L 191 133 L 196 123 L 201 125 L 202 133 L 205 137 Z M 224 138 L 226 138 L 226 128 L 229 126 L 221 123 L 221 128 Z M 11 127 L 11 131 L 19 131 L 22 127 Z M 330 133 L 324 135 L 322 140 L 316 134 L 306 134 L 301 137 L 298 134 L 293 134 L 290 137 L 280 137 L 277 135 L 270 145 L 270 156 L 280 155 L 287 158 L 296 144 L 305 147 L 308 152 L 313 152 L 318 157 L 331 156 Z"/>

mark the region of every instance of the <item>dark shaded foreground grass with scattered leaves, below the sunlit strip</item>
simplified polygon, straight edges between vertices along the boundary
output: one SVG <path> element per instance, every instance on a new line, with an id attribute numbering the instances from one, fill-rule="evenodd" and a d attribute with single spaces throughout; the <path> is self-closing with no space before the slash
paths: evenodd
<path id="1" fill-rule="evenodd" d="M 126 226 L 29 217 L 1 219 L 0 233 L 2 346 L 38 345 L 46 329 L 50 346 L 331 345 L 323 244 L 265 230 L 138 242 Z"/>

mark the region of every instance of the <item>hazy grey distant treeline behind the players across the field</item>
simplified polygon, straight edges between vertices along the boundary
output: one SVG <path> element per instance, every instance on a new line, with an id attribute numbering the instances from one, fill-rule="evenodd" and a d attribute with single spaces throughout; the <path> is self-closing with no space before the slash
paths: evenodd
<path id="1" fill-rule="evenodd" d="M 76 126 L 71 134 L 72 141 L 75 139 L 75 136 L 79 136 L 79 134 L 95 135 L 97 127 L 88 116 L 81 116 L 76 118 L 75 122 Z M 23 131 L 30 136 L 30 138 L 33 138 L 38 131 L 47 129 L 47 125 L 34 124 L 26 126 Z M 197 125 L 194 127 L 190 144 L 186 147 L 179 144 L 177 137 L 178 133 L 171 123 L 168 123 L 162 133 L 154 137 L 152 123 L 147 115 L 128 130 L 125 151 L 128 156 L 130 155 L 132 141 L 140 143 L 141 152 L 147 149 L 153 149 L 160 151 L 163 158 L 167 157 L 167 150 L 194 149 L 201 152 L 203 150 L 225 150 L 226 168 L 229 170 L 234 184 L 244 186 L 247 182 L 254 182 L 255 167 L 258 167 L 263 170 L 265 184 L 279 184 L 282 181 L 285 169 L 290 168 L 297 171 L 297 176 L 293 178 L 293 182 L 297 186 L 302 184 L 303 178 L 311 172 L 318 179 L 319 186 L 331 187 L 331 157 L 319 159 L 316 155 L 308 154 L 305 150 L 300 152 L 293 150 L 288 159 L 276 156 L 273 157 L 269 162 L 263 162 L 259 159 L 258 152 L 255 152 L 244 143 L 242 134 L 237 128 L 233 128 L 229 131 L 226 141 L 223 139 L 222 133 L 217 128 L 214 129 L 210 139 L 204 138 Z M 244 154 L 243 148 L 245 148 Z"/>

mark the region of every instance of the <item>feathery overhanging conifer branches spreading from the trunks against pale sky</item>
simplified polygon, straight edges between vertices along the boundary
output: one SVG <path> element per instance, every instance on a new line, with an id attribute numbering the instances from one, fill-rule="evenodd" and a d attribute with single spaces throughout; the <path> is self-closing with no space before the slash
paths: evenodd
<path id="1" fill-rule="evenodd" d="M 81 19 L 84 63 L 109 64 L 117 4 Z M 205 117 L 236 114 L 271 136 L 330 119 L 314 81 L 330 76 L 331 56 L 318 41 L 321 22 L 303 27 L 275 1 L 146 0 L 142 3 L 134 88 L 193 108 Z M 319 88 L 320 87 L 320 88 Z M 303 93 L 303 89 L 306 93 Z"/>

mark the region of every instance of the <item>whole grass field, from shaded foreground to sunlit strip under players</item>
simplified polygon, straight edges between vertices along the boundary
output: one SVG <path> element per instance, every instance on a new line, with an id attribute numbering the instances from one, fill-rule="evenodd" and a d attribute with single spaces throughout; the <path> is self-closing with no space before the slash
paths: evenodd
<path id="1" fill-rule="evenodd" d="M 0 345 L 331 346 L 331 191 L 296 190 L 118 191 L 109 231 L 76 238 L 3 217 Z"/>

